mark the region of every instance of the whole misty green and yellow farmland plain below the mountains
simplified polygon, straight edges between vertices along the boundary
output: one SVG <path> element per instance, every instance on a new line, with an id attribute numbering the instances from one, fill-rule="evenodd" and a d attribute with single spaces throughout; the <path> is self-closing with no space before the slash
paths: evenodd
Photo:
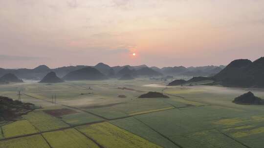
<path id="1" fill-rule="evenodd" d="M 263 148 L 264 107 L 232 103 L 248 91 L 264 98 L 262 89 L 168 87 L 138 78 L 0 85 L 0 95 L 16 99 L 21 88 L 22 101 L 41 108 L 1 123 L 3 148 L 31 148 L 34 139 L 44 148 L 98 148 L 92 140 L 104 148 Z M 149 91 L 170 98 L 138 98 Z"/>

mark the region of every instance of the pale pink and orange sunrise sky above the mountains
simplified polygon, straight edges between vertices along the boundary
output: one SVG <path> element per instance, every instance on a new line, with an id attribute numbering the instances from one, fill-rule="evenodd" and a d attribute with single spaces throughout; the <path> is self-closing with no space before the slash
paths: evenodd
<path id="1" fill-rule="evenodd" d="M 189 67 L 261 56 L 264 0 L 0 0 L 1 68 Z"/>

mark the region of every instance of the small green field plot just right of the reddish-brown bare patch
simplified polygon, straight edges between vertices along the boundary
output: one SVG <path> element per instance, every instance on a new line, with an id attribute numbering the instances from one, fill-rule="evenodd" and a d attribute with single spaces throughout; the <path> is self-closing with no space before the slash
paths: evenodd
<path id="1" fill-rule="evenodd" d="M 102 118 L 99 118 L 97 116 L 94 116 L 94 115 L 86 113 L 86 112 L 64 115 L 64 116 L 62 116 L 62 120 L 65 121 L 67 124 L 72 125 L 72 126 L 103 121 Z"/>

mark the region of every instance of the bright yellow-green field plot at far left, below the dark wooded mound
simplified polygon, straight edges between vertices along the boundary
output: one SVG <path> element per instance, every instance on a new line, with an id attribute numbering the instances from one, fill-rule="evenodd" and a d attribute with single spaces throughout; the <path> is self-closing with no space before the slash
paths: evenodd
<path id="1" fill-rule="evenodd" d="M 5 138 L 27 135 L 38 132 L 27 120 L 20 120 L 8 125 L 2 126 Z"/>

